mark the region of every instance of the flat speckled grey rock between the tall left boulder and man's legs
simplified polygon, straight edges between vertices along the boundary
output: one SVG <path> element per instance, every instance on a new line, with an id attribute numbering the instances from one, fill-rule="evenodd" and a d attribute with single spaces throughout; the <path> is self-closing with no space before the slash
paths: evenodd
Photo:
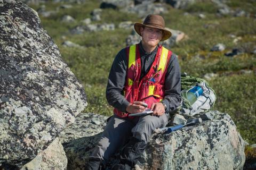
<path id="1" fill-rule="evenodd" d="M 106 126 L 107 118 L 107 116 L 93 113 L 79 114 L 75 122 L 60 133 L 61 143 L 67 143 L 82 137 L 90 137 L 102 132 Z"/>

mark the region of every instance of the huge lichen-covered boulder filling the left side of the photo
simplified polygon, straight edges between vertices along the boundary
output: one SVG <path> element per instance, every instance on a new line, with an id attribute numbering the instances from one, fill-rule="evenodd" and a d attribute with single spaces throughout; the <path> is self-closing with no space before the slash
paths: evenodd
<path id="1" fill-rule="evenodd" d="M 21 2 L 0 0 L 0 169 L 21 168 L 83 111 L 82 85 Z"/>

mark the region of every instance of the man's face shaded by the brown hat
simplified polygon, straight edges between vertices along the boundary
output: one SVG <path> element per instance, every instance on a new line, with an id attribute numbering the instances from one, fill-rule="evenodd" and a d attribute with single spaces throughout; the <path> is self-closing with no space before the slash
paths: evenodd
<path id="1" fill-rule="evenodd" d="M 150 27 L 140 28 L 140 33 L 143 43 L 150 47 L 155 47 L 163 36 L 163 31 L 161 29 Z"/>

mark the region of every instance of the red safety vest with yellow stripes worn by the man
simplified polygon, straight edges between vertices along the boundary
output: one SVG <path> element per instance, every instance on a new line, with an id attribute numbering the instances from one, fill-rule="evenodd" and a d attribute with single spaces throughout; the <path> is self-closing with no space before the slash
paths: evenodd
<path id="1" fill-rule="evenodd" d="M 127 101 L 133 103 L 133 101 L 144 100 L 148 104 L 148 108 L 150 108 L 153 103 L 157 103 L 164 98 L 165 74 L 171 55 L 172 52 L 170 50 L 158 46 L 155 60 L 149 72 L 140 80 L 139 44 L 126 48 L 128 66 L 123 90 Z M 129 115 L 129 113 L 118 111 L 116 108 L 114 109 L 114 114 L 119 117 L 127 117 Z"/>

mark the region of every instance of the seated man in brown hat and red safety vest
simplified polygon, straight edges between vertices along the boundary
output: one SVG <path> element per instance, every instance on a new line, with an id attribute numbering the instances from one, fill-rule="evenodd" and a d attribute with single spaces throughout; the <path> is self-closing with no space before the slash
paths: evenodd
<path id="1" fill-rule="evenodd" d="M 160 15 L 148 15 L 135 23 L 141 42 L 122 49 L 111 67 L 106 97 L 114 116 L 108 120 L 90 158 L 89 169 L 99 169 L 123 146 L 120 163 L 112 169 L 131 169 L 147 146 L 151 133 L 167 124 L 169 111 L 181 103 L 177 56 L 158 45 L 171 37 Z M 153 114 L 129 116 L 148 108 Z"/>

